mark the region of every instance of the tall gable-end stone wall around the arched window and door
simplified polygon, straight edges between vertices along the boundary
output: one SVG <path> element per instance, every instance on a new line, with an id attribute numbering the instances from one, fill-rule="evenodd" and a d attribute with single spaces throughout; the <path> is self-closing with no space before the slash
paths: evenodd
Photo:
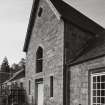
<path id="1" fill-rule="evenodd" d="M 38 17 L 39 8 L 43 8 Z M 26 60 L 27 100 L 35 103 L 35 80 L 43 78 L 44 105 L 63 104 L 64 23 L 57 19 L 46 0 L 40 0 Z M 43 48 L 43 72 L 36 73 L 36 51 Z M 50 76 L 54 77 L 54 97 L 50 98 Z M 31 94 L 29 95 L 29 80 Z"/>

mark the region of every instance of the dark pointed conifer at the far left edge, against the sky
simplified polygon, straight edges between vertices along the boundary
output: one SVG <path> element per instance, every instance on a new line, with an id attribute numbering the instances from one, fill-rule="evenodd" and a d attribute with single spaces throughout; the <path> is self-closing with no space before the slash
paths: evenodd
<path id="1" fill-rule="evenodd" d="M 2 72 L 10 72 L 10 66 L 9 66 L 9 64 L 8 64 L 8 59 L 7 59 L 7 57 L 5 57 L 4 59 L 3 59 L 3 62 L 2 62 L 2 64 L 1 64 L 1 71 Z"/>

